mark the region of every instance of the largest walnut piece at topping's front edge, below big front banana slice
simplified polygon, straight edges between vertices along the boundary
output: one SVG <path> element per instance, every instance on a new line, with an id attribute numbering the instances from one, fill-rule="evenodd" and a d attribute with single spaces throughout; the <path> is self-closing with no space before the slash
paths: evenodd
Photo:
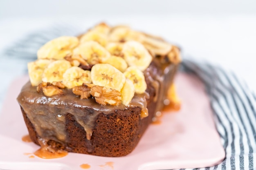
<path id="1" fill-rule="evenodd" d="M 91 95 L 94 96 L 97 103 L 102 105 L 110 104 L 112 106 L 117 106 L 121 103 L 121 93 L 115 89 L 93 86 Z"/>

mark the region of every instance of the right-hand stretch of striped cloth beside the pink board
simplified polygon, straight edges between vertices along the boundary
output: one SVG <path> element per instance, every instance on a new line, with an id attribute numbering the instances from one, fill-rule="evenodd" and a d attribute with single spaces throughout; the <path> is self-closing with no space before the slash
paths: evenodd
<path id="1" fill-rule="evenodd" d="M 184 60 L 183 70 L 204 82 L 225 160 L 205 170 L 253 170 L 256 158 L 256 97 L 245 82 L 223 68 Z"/>

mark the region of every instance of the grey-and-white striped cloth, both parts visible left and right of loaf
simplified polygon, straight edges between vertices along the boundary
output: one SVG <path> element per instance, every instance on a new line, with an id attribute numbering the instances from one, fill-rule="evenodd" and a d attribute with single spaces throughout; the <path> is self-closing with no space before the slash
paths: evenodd
<path id="1" fill-rule="evenodd" d="M 39 31 L 6 49 L 4 54 L 20 60 L 32 61 L 36 59 L 37 49 L 45 42 L 61 35 L 76 34 L 76 30 L 63 26 Z M 215 113 L 216 128 L 226 152 L 225 160 L 219 165 L 207 168 L 195 167 L 193 170 L 253 170 L 254 167 L 256 168 L 254 165 L 256 159 L 255 94 L 234 73 L 209 63 L 184 60 L 181 71 L 193 74 L 204 82 Z"/>

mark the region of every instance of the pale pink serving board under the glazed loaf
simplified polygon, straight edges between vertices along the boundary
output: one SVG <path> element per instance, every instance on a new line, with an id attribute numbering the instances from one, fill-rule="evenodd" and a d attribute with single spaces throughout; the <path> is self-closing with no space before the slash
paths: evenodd
<path id="1" fill-rule="evenodd" d="M 177 93 L 182 100 L 181 110 L 164 113 L 161 124 L 151 124 L 129 155 L 98 157 L 69 153 L 58 159 L 29 158 L 39 146 L 22 141 L 28 132 L 16 102 L 22 85 L 27 81 L 27 76 L 16 79 L 3 104 L 0 169 L 82 170 L 80 165 L 87 163 L 90 170 L 164 170 L 214 166 L 225 158 L 203 84 L 182 73 L 175 78 Z M 112 162 L 113 166 L 102 166 L 106 162 Z"/>

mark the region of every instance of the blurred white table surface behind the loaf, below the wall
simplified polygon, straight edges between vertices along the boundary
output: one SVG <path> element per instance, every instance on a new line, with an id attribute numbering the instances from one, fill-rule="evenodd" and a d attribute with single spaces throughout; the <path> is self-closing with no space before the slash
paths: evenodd
<path id="1" fill-rule="evenodd" d="M 76 18 L 76 19 L 74 19 Z M 256 91 L 256 15 L 106 15 L 90 17 L 0 18 L 0 106 L 7 88 L 26 74 L 27 61 L 17 61 L 1 52 L 34 31 L 55 23 L 75 26 L 79 31 L 98 22 L 128 24 L 160 35 L 182 47 L 185 58 L 206 60 L 234 71 Z"/>

